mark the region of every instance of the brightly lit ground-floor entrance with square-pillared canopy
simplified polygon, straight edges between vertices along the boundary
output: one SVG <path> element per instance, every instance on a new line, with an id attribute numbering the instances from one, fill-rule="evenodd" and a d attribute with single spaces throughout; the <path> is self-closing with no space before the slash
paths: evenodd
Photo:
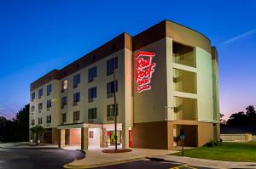
<path id="1" fill-rule="evenodd" d="M 81 149 L 113 148 L 115 132 L 113 124 L 72 124 L 58 127 L 59 147 L 76 146 Z M 117 144 L 123 147 L 125 134 L 121 123 L 117 125 Z M 125 144 L 124 144 L 125 145 Z"/>

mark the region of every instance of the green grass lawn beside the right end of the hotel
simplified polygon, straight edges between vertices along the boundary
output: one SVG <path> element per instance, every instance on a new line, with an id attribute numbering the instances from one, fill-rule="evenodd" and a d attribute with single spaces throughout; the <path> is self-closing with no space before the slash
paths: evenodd
<path id="1" fill-rule="evenodd" d="M 172 155 L 182 155 L 181 152 Z M 223 143 L 218 147 L 199 147 L 184 150 L 184 156 L 218 161 L 256 162 L 256 142 Z"/>

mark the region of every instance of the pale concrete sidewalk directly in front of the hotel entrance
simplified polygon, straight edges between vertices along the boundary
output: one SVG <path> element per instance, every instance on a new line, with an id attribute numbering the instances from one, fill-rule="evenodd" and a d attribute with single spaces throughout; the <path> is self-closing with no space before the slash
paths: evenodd
<path id="1" fill-rule="evenodd" d="M 146 158 L 147 156 L 159 156 L 159 155 L 168 155 L 175 153 L 174 150 L 165 150 L 165 149 L 132 149 L 128 153 L 117 153 L 117 154 L 108 154 L 102 153 L 102 149 L 90 149 L 86 150 L 86 157 L 79 161 L 73 161 L 66 166 L 65 168 L 91 168 L 98 166 L 110 166 L 120 163 L 125 163 L 129 161 L 138 161 Z"/>

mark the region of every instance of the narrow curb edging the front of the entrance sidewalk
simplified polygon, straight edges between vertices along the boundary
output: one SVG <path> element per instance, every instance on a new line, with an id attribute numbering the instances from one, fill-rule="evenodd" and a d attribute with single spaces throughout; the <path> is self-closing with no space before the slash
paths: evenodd
<path id="1" fill-rule="evenodd" d="M 123 160 L 123 161 L 113 161 L 113 162 L 105 162 L 105 163 L 101 163 L 101 164 L 93 164 L 93 165 L 84 165 L 84 166 L 73 166 L 72 163 L 69 163 L 65 166 L 63 166 L 64 168 L 67 169 L 84 169 L 84 168 L 95 168 L 95 167 L 100 167 L 100 166 L 112 166 L 112 165 L 117 165 L 117 164 L 123 164 L 126 162 L 132 162 L 132 161 L 140 161 L 145 159 L 145 157 L 137 157 L 137 158 L 133 158 L 133 159 L 127 159 L 127 160 Z"/>

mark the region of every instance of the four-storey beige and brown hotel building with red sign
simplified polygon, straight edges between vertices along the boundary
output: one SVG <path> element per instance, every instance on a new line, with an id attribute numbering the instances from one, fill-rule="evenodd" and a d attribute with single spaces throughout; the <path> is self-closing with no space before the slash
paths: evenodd
<path id="1" fill-rule="evenodd" d="M 210 40 L 164 20 L 131 37 L 122 33 L 31 84 L 30 127 L 42 141 L 113 144 L 113 93 L 123 148 L 173 149 L 219 139 L 218 54 Z"/>

